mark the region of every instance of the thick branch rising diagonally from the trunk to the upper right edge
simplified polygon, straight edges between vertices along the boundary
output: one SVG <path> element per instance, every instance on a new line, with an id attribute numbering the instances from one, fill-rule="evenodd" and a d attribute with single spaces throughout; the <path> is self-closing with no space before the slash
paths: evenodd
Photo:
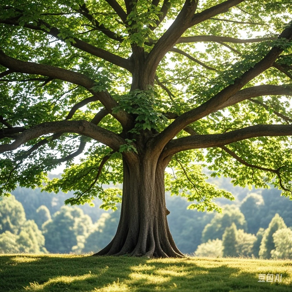
<path id="1" fill-rule="evenodd" d="M 292 24 L 284 29 L 284 31 L 279 35 L 279 39 L 281 38 L 285 38 L 289 41 L 292 39 Z M 283 48 L 281 47 L 273 47 L 262 60 L 254 65 L 254 67 L 244 72 L 241 77 L 236 78 L 234 80 L 234 84 L 227 86 L 222 91 L 210 98 L 208 101 L 204 102 L 202 105 L 191 109 L 188 112 L 185 112 L 180 117 L 175 119 L 156 137 L 157 147 L 160 148 L 162 151 L 166 143 L 173 137 L 175 137 L 175 135 L 179 133 L 183 128 L 185 128 L 185 126 L 222 108 L 222 105 L 224 105 L 224 103 L 227 102 L 227 100 L 232 95 L 235 95 L 245 84 L 247 84 L 254 77 L 258 76 L 263 71 L 271 67 L 282 51 Z"/>

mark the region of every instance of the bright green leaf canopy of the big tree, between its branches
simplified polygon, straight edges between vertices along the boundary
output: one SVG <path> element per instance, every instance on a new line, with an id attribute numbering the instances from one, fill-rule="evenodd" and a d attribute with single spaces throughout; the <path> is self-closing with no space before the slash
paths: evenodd
<path id="1" fill-rule="evenodd" d="M 53 181 L 48 181 L 47 173 L 60 166 L 60 160 L 75 153 L 81 141 L 80 136 L 64 133 L 55 140 L 46 135 L 26 142 L 19 151 L 0 158 L 0 194 L 12 191 L 18 185 L 43 187 L 50 192 L 73 190 L 74 197 L 67 199 L 68 204 L 90 203 L 95 197 L 99 197 L 103 200 L 103 207 L 115 209 L 121 201 L 121 191 L 105 191 L 102 185 L 107 185 L 108 181 L 114 184 L 122 182 L 122 155 L 128 151 L 138 152 L 134 142 L 139 135 L 156 135 L 163 131 L 170 124 L 165 113 L 180 115 L 201 105 L 233 84 L 236 78 L 252 68 L 274 46 L 284 49 L 277 63 L 288 73 L 291 72 L 291 42 L 274 39 L 291 21 L 290 2 L 243 1 L 225 11 L 222 18 L 220 16 L 221 20 L 206 19 L 189 27 L 182 36 L 209 35 L 238 39 L 264 36 L 269 40 L 245 44 L 227 41 L 175 44 L 177 40 L 174 40 L 176 48 L 200 63 L 170 51 L 160 60 L 155 72 L 156 82 L 149 84 L 149 88 L 130 91 L 130 72 L 111 63 L 110 58 L 105 61 L 74 47 L 77 39 L 84 44 L 88 43 L 91 49 L 103 50 L 109 56 L 115 54 L 124 60 L 131 60 L 131 66 L 139 66 L 140 64 L 132 62 L 132 53 L 138 51 L 141 60 L 147 60 L 155 43 L 180 13 L 182 2 L 173 0 L 162 4 L 161 1 L 156 6 L 152 1 L 139 0 L 131 2 L 131 9 L 126 7 L 124 1 L 117 3 L 126 11 L 125 19 L 121 19 L 107 1 L 68 0 L 63 1 L 62 5 L 58 1 L 44 0 L 33 3 L 28 0 L 1 2 L 0 20 L 18 21 L 18 25 L 12 27 L 1 23 L 1 49 L 5 53 L 23 61 L 84 74 L 94 83 L 88 89 L 94 93 L 107 91 L 118 102 L 113 113 L 124 110 L 131 114 L 134 126 L 130 131 L 127 130 L 126 143 L 120 145 L 120 153 L 109 159 L 98 180 L 98 166 L 111 150 L 102 148 L 96 141 L 88 139 L 84 154 L 86 157 L 80 163 L 69 159 L 63 177 Z M 197 13 L 214 5 L 214 1 L 198 1 Z M 168 8 L 165 18 L 164 9 L 161 11 L 164 6 Z M 142 67 L 138 69 L 139 72 L 144 70 Z M 1 66 L 1 72 L 5 70 Z M 28 129 L 43 122 L 64 120 L 74 105 L 90 97 L 92 93 L 83 86 L 37 74 L 12 72 L 4 77 L 1 80 L 4 86 L 0 88 L 0 116 L 12 127 Z M 246 87 L 261 84 L 291 84 L 291 80 L 288 75 L 268 69 L 252 79 Z M 280 124 L 283 120 L 275 111 L 291 119 L 289 97 L 283 99 L 269 95 L 257 99 L 265 103 L 268 109 L 246 100 L 209 114 L 190 126 L 198 134 L 218 134 L 255 124 Z M 91 121 L 102 107 L 98 100 L 91 102 L 79 108 L 72 119 Z M 117 134 L 122 131 L 119 122 L 110 115 L 103 118 L 99 126 Z M 3 128 L 6 128 L 5 124 L 1 124 L 1 129 Z M 182 131 L 176 138 L 185 135 L 187 134 Z M 43 138 L 47 138 L 49 142 L 28 155 L 27 150 Z M 8 143 L 12 139 L 7 137 L 1 141 Z M 166 189 L 171 190 L 172 194 L 178 194 L 180 189 L 183 196 L 194 202 L 190 204 L 190 208 L 220 211 L 214 199 L 232 199 L 232 195 L 206 182 L 207 175 L 201 173 L 202 166 L 208 166 L 212 175 L 231 177 L 235 185 L 267 187 L 272 184 L 281 187 L 282 184 L 286 189 L 292 187 L 289 138 L 252 138 L 234 142 L 228 147 L 250 164 L 273 169 L 284 166 L 280 170 L 281 182 L 275 173 L 244 166 L 220 148 L 210 148 L 207 154 L 199 150 L 177 154 L 187 176 L 173 158 L 169 166 L 173 168 L 175 178 L 166 174 Z M 185 161 L 181 156 L 186 157 Z M 291 193 L 284 188 L 281 187 L 283 194 L 289 196 Z M 253 233 L 257 231 L 256 225 L 248 228 Z"/>

